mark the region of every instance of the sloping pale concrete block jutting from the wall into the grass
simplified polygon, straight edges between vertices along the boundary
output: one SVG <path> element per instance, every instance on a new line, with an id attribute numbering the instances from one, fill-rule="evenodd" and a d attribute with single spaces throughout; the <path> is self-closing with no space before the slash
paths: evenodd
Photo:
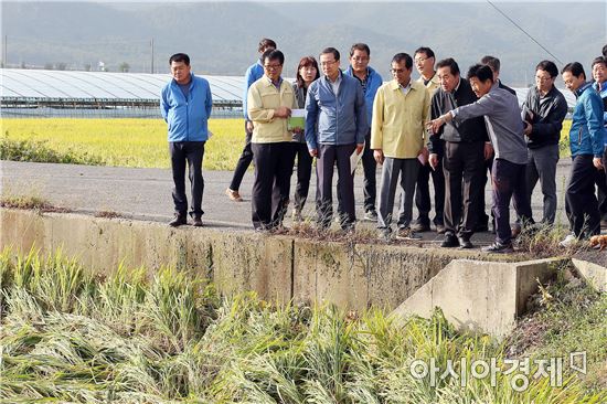
<path id="1" fill-rule="evenodd" d="M 393 311 L 397 320 L 428 318 L 439 307 L 459 330 L 507 336 L 523 313 L 525 301 L 566 261 L 521 263 L 456 259 Z"/>

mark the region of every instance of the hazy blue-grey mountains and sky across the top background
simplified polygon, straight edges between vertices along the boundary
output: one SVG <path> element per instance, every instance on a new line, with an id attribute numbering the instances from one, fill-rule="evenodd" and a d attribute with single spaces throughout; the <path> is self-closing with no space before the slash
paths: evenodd
<path id="1" fill-rule="evenodd" d="M 284 51 L 291 77 L 303 55 L 334 46 L 345 67 L 350 45 L 365 42 L 384 79 L 392 55 L 425 45 L 438 60 L 455 57 L 464 73 L 486 54 L 498 56 L 502 81 L 526 86 L 539 61 L 560 67 L 579 61 L 589 70 L 607 42 L 605 1 L 2 1 L 0 8 L 2 64 L 25 68 L 97 70 L 102 62 L 109 71 L 149 73 L 153 41 L 155 73 L 168 72 L 171 54 L 187 52 L 196 74 L 242 75 L 267 36 Z"/>

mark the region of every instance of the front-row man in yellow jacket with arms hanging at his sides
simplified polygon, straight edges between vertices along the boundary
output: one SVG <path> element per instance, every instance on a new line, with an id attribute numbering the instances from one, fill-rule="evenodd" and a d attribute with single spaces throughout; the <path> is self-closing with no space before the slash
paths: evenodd
<path id="1" fill-rule="evenodd" d="M 411 79 L 412 71 L 413 60 L 408 54 L 394 55 L 391 68 L 394 79 L 377 89 L 373 103 L 371 149 L 377 163 L 382 164 L 377 228 L 383 237 L 388 237 L 392 232 L 400 174 L 402 194 L 396 238 L 420 238 L 409 225 L 420 160 L 427 158 L 424 128 L 429 119 L 430 95 L 423 83 Z"/>

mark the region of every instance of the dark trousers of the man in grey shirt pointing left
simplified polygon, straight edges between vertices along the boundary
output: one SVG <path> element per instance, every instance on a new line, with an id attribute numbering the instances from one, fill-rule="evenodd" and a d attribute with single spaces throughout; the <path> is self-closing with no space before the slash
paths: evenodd
<path id="1" fill-rule="evenodd" d="M 532 222 L 531 205 L 526 199 L 526 164 L 517 164 L 503 159 L 494 159 L 491 169 L 493 205 L 496 217 L 496 238 L 501 244 L 512 240 L 510 228 L 510 200 L 514 199 L 514 211 L 523 222 Z"/>

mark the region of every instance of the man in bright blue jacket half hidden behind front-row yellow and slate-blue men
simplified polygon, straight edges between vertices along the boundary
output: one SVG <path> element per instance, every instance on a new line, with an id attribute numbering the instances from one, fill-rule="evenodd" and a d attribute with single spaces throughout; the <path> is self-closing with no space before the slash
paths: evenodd
<path id="1" fill-rule="evenodd" d="M 364 95 L 364 104 L 366 105 L 366 121 L 371 126 L 371 117 L 373 116 L 373 99 L 377 88 L 383 84 L 382 76 L 369 66 L 371 60 L 371 50 L 365 43 L 355 43 L 350 49 L 350 66 L 345 70 L 345 74 L 354 77 L 362 86 Z M 377 212 L 375 211 L 375 199 L 377 195 L 377 185 L 375 171 L 377 162 L 373 158 L 371 150 L 371 130 L 364 136 L 364 150 L 362 152 L 362 168 L 364 172 L 364 220 L 376 222 Z M 339 188 L 339 187 L 338 187 Z M 341 194 L 338 192 L 338 212 L 341 212 Z"/>

